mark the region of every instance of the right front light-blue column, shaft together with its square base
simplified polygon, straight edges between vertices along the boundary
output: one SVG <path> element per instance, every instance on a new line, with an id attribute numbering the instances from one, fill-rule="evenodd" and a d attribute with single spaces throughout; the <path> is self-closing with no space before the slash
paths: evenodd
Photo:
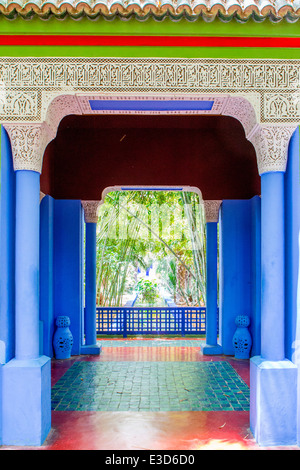
<path id="1" fill-rule="evenodd" d="M 285 359 L 284 172 L 261 175 L 261 356 L 250 360 L 250 428 L 260 445 L 297 441 L 297 366 Z"/>

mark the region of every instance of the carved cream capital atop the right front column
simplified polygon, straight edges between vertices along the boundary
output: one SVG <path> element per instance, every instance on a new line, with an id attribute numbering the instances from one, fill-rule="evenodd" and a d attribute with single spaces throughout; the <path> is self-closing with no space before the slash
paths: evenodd
<path id="1" fill-rule="evenodd" d="M 296 125 L 258 124 L 248 136 L 256 151 L 259 174 L 286 170 L 288 145 Z"/>

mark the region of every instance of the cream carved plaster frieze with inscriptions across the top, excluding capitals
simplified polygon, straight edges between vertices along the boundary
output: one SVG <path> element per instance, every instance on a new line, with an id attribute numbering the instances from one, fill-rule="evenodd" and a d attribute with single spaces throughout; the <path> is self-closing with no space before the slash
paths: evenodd
<path id="1" fill-rule="evenodd" d="M 42 122 L 60 95 L 146 93 L 239 95 L 258 122 L 299 122 L 299 84 L 299 60 L 1 58 L 0 119 Z M 56 112 L 78 113 L 71 101 Z"/>

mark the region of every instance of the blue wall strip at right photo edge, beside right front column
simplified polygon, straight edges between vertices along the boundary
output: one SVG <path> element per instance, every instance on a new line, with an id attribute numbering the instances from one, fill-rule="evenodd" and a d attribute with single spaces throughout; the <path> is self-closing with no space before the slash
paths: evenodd
<path id="1" fill-rule="evenodd" d="M 286 315 L 285 353 L 290 360 L 293 354 L 299 362 L 300 326 L 297 323 L 297 297 L 299 283 L 299 233 L 300 233 L 300 171 L 299 128 L 294 132 L 288 150 L 285 173 L 285 257 L 286 257 Z M 299 330 L 299 331 L 297 331 Z M 298 344 L 299 343 L 299 344 Z"/>

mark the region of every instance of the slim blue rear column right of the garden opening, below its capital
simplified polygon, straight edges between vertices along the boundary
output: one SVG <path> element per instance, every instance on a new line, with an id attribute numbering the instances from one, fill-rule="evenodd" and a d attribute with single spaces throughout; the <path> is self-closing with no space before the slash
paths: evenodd
<path id="1" fill-rule="evenodd" d="M 222 354 L 217 340 L 218 224 L 206 224 L 206 345 L 203 354 Z"/>

